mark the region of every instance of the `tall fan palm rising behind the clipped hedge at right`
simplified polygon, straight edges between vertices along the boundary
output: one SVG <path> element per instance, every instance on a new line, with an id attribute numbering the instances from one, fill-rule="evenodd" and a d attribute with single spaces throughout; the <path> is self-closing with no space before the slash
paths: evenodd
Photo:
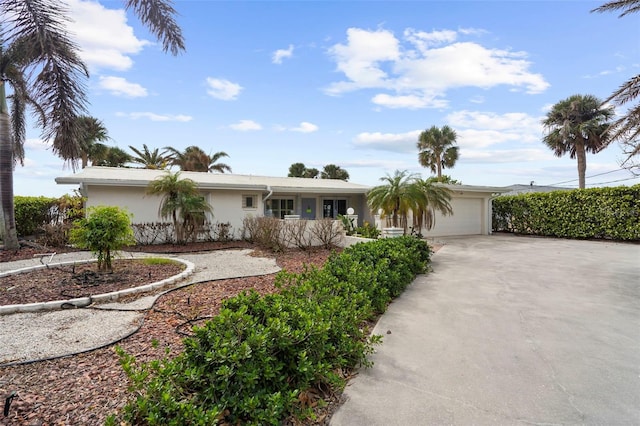
<path id="1" fill-rule="evenodd" d="M 542 124 L 547 129 L 543 142 L 557 157 L 569 153 L 578 160 L 578 186 L 584 188 L 587 152 L 597 153 L 611 143 L 613 108 L 604 107 L 592 95 L 573 95 L 555 104 Z"/>

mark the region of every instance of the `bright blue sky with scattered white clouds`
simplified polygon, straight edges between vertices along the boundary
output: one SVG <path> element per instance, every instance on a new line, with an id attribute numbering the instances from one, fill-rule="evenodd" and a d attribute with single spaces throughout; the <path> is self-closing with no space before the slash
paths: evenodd
<path id="1" fill-rule="evenodd" d="M 541 142 L 551 105 L 606 98 L 640 73 L 640 15 L 602 1 L 183 1 L 178 57 L 121 1 L 68 0 L 91 71 L 89 114 L 129 150 L 198 145 L 233 173 L 286 176 L 336 164 L 355 183 L 394 170 L 429 176 L 421 131 L 449 125 L 471 185 L 577 186 L 575 160 Z M 621 113 L 623 111 L 618 111 Z M 28 132 L 16 195 L 73 190 L 38 129 Z M 587 158 L 587 186 L 635 184 L 612 144 Z M 573 181 L 572 181 L 573 180 Z M 619 180 L 619 183 L 612 181 Z"/>

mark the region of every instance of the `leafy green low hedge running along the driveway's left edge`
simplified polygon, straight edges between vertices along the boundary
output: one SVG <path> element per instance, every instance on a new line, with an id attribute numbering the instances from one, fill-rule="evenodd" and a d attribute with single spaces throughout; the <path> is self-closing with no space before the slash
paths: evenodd
<path id="1" fill-rule="evenodd" d="M 322 269 L 282 272 L 280 293 L 227 300 L 172 360 L 136 365 L 119 351 L 137 395 L 131 424 L 281 424 L 310 414 L 307 391 L 344 386 L 344 369 L 369 365 L 379 336 L 363 324 L 425 272 L 426 243 L 413 237 L 360 243 Z"/>

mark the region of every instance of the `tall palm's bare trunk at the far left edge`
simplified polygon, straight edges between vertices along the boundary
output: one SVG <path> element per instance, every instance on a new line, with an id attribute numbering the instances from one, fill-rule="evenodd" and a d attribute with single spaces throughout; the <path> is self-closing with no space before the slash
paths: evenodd
<path id="1" fill-rule="evenodd" d="M 17 250 L 20 245 L 18 244 L 13 207 L 13 140 L 3 81 L 0 81 L 0 207 L 3 218 L 4 248 L 5 250 Z"/>

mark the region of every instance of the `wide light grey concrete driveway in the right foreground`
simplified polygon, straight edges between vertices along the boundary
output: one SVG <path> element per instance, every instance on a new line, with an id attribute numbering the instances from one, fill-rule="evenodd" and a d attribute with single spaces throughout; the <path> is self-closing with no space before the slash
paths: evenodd
<path id="1" fill-rule="evenodd" d="M 446 239 L 338 425 L 640 424 L 640 245 Z"/>

